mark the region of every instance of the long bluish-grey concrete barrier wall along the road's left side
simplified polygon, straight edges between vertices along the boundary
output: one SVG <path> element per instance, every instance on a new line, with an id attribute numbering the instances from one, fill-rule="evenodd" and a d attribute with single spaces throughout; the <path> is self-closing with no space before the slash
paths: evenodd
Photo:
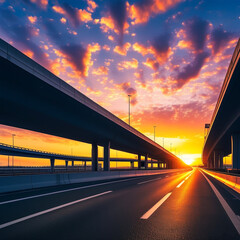
<path id="1" fill-rule="evenodd" d="M 114 178 L 164 174 L 187 170 L 189 169 L 132 170 L 132 171 L 0 176 L 0 193 L 41 187 L 50 187 L 71 183 L 92 182 L 97 180 L 106 180 Z"/>

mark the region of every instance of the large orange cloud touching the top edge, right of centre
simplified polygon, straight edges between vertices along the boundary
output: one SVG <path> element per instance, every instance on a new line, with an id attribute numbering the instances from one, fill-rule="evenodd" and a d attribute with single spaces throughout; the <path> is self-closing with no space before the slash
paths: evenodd
<path id="1" fill-rule="evenodd" d="M 133 20 L 133 25 L 146 23 L 151 16 L 164 13 L 181 1 L 182 0 L 152 0 L 139 2 L 130 6 L 129 17 Z"/>

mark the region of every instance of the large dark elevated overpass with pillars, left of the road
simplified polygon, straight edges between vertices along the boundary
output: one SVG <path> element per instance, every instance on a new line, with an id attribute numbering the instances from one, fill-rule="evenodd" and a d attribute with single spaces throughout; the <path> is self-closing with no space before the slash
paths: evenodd
<path id="1" fill-rule="evenodd" d="M 97 171 L 98 146 L 104 147 L 104 170 L 112 149 L 166 163 L 186 165 L 35 61 L 0 39 L 0 124 L 92 144 L 92 170 Z"/>

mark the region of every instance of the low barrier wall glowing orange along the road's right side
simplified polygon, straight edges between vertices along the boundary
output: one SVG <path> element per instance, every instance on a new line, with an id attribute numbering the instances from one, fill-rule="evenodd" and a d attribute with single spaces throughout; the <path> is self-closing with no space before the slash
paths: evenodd
<path id="1" fill-rule="evenodd" d="M 211 170 L 202 169 L 205 173 L 216 178 L 220 182 L 234 189 L 236 192 L 240 193 L 240 177 L 228 175 L 226 173 L 219 173 Z"/>

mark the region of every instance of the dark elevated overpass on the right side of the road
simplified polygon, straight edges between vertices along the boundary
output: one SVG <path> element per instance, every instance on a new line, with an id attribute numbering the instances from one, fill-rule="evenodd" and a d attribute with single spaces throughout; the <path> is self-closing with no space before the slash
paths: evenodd
<path id="1" fill-rule="evenodd" d="M 232 153 L 234 169 L 240 169 L 240 39 L 227 70 L 203 148 L 203 163 L 222 168 Z"/>

